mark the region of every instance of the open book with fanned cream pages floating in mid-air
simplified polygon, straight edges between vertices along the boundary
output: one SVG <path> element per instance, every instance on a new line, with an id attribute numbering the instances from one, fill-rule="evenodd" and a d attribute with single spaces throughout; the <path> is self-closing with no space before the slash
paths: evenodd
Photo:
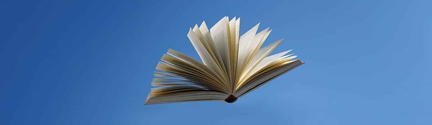
<path id="1" fill-rule="evenodd" d="M 239 35 L 240 18 L 223 17 L 210 30 L 205 22 L 187 37 L 203 63 L 169 49 L 156 66 L 144 105 L 194 101 L 234 103 L 267 82 L 302 65 L 291 50 L 270 55 L 283 39 L 261 47 L 272 30 L 257 33 L 258 23 Z"/>

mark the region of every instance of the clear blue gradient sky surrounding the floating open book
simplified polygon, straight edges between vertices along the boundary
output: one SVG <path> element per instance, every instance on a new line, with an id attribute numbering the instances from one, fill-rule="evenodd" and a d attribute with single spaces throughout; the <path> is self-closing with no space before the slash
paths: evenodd
<path id="1" fill-rule="evenodd" d="M 431 0 L 0 2 L 1 125 L 432 125 Z M 146 105 L 168 48 L 261 22 L 306 63 L 236 103 Z"/>

